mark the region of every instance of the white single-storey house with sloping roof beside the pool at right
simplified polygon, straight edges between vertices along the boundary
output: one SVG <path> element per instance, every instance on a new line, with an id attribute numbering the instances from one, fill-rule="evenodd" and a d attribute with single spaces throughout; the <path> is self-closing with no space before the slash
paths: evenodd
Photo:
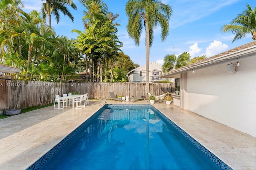
<path id="1" fill-rule="evenodd" d="M 180 108 L 256 137 L 256 41 L 160 77 L 180 82 Z"/>

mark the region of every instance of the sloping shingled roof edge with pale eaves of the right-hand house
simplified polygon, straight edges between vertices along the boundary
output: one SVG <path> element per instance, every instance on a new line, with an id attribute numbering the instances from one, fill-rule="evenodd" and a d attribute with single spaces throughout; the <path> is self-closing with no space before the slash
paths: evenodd
<path id="1" fill-rule="evenodd" d="M 218 55 L 214 55 L 207 59 L 188 64 L 186 66 L 171 70 L 164 74 L 161 74 L 159 77 L 161 78 L 170 78 L 175 74 L 180 74 L 184 72 L 191 71 L 192 68 L 202 68 L 212 66 L 214 64 L 219 64 L 221 62 L 230 61 L 230 63 L 242 58 L 242 57 L 251 57 L 252 55 L 256 55 L 256 41 L 241 45 L 234 49 L 230 49 Z"/>

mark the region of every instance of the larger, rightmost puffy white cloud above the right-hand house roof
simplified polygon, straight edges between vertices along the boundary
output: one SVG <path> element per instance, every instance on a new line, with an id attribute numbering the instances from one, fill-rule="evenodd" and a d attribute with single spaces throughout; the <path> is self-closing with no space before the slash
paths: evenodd
<path id="1" fill-rule="evenodd" d="M 211 43 L 207 48 L 206 48 L 206 57 L 212 57 L 214 55 L 217 55 L 223 51 L 228 49 L 228 45 L 223 44 L 220 41 L 214 40 L 213 43 Z"/>

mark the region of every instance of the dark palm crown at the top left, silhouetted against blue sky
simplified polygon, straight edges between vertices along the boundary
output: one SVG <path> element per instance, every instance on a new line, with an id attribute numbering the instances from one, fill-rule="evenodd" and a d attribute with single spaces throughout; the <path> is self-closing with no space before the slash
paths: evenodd
<path id="1" fill-rule="evenodd" d="M 64 16 L 68 16 L 72 22 L 74 22 L 74 17 L 68 10 L 66 6 L 71 6 L 74 10 L 77 9 L 76 4 L 74 4 L 73 0 L 42 0 L 42 14 L 43 18 L 48 17 L 49 25 L 51 26 L 51 16 L 52 12 L 57 20 L 57 23 L 60 21 L 60 13 L 62 12 Z"/>

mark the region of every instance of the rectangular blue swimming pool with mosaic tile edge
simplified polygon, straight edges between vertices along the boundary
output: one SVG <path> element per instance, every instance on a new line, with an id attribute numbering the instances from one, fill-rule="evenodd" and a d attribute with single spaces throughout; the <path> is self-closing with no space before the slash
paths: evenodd
<path id="1" fill-rule="evenodd" d="M 152 105 L 105 105 L 28 169 L 231 170 Z"/>

